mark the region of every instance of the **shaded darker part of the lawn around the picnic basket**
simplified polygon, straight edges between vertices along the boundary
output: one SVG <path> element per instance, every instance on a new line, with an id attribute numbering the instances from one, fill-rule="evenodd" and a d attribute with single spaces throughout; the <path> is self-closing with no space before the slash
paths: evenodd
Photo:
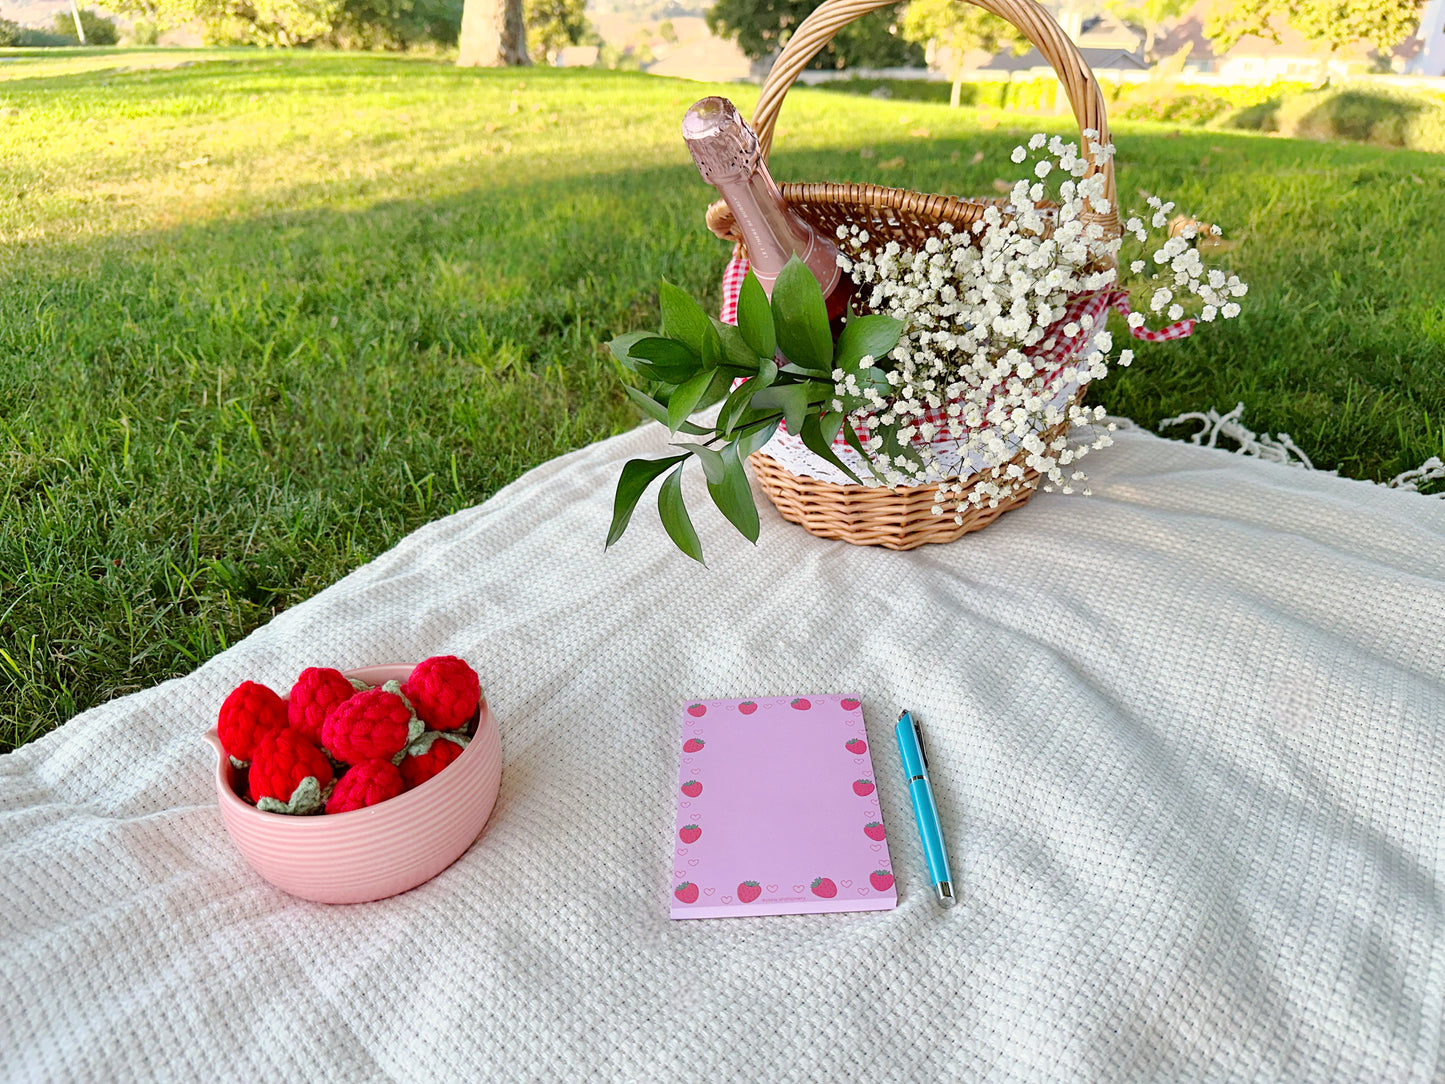
<path id="1" fill-rule="evenodd" d="M 773 165 L 987 195 L 1017 136 L 785 147 Z M 1418 465 L 1445 418 L 1438 269 L 1407 263 L 1439 244 L 1433 192 L 1345 184 L 1366 168 L 1351 155 L 1312 179 L 1314 147 L 1238 169 L 1259 140 L 1234 140 L 1160 142 L 1127 184 L 1215 195 L 1202 210 L 1246 236 L 1247 318 L 1140 347 L 1097 402 L 1152 426 L 1243 399 L 1251 428 L 1322 467 Z M 656 325 L 659 279 L 715 304 L 728 249 L 702 225 L 708 195 L 689 166 L 618 168 L 12 254 L 0 746 L 194 669 L 422 523 L 636 423 L 600 344 Z"/>

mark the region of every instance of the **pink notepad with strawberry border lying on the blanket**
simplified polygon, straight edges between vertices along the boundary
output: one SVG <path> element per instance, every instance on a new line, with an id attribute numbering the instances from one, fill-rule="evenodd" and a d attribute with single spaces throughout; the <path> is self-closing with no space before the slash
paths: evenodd
<path id="1" fill-rule="evenodd" d="M 897 906 L 855 697 L 698 701 L 679 744 L 672 918 Z"/>

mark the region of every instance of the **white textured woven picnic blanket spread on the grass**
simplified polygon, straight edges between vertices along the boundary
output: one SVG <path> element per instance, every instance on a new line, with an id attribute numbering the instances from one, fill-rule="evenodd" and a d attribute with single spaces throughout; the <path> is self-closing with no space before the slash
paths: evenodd
<path id="1" fill-rule="evenodd" d="M 754 548 L 698 484 L 707 569 L 647 506 L 604 554 L 665 442 L 548 463 L 0 757 L 0 1078 L 1445 1075 L 1441 502 L 1124 431 L 1092 497 L 949 545 L 760 500 Z M 201 743 L 225 692 L 434 653 L 500 723 L 481 838 L 377 903 L 266 885 Z M 669 921 L 679 708 L 809 692 L 863 695 L 899 908 Z"/>

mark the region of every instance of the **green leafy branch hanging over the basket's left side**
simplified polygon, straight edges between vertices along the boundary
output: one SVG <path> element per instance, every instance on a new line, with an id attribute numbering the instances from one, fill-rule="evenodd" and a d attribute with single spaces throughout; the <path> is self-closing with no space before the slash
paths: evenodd
<path id="1" fill-rule="evenodd" d="M 660 334 L 634 331 L 607 345 L 618 363 L 644 382 L 646 390 L 626 386 L 643 413 L 666 425 L 673 436 L 696 439 L 673 441 L 676 455 L 630 460 L 623 467 L 608 546 L 627 530 L 643 493 L 666 474 L 657 491 L 662 526 L 683 554 L 702 561 L 698 532 L 682 500 L 682 470 L 688 460 L 702 465 L 718 510 L 756 543 L 757 504 L 743 461 L 767 444 L 779 423 L 786 423 L 788 432 L 796 434 L 814 454 L 863 484 L 837 457 L 832 442 L 841 432 L 871 470 L 848 415 L 868 406 L 866 387 L 884 395 L 890 387 L 874 360 L 897 344 L 902 321 L 850 312 L 835 343 L 818 279 L 796 256 L 773 283 L 772 301 L 749 272 L 737 302 L 737 327 L 709 317 L 696 301 L 666 282 L 660 302 Z M 851 374 L 858 392 L 840 395 L 834 370 Z M 743 383 L 734 387 L 738 380 Z M 842 410 L 824 406 L 835 399 Z M 711 425 L 691 421 L 718 403 Z"/>

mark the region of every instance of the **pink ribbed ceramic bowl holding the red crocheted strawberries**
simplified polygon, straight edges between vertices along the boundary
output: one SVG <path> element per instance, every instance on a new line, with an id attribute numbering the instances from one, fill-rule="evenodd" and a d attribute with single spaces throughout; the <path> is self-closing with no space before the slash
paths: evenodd
<path id="1" fill-rule="evenodd" d="M 366 666 L 345 674 L 380 685 L 410 672 Z M 215 792 L 231 841 L 272 885 L 321 903 L 363 903 L 431 880 L 481 834 L 501 785 L 501 740 L 486 698 L 460 757 L 413 791 L 344 814 L 262 812 L 236 793 L 236 769 L 214 728 L 205 740 L 215 749 Z"/>

